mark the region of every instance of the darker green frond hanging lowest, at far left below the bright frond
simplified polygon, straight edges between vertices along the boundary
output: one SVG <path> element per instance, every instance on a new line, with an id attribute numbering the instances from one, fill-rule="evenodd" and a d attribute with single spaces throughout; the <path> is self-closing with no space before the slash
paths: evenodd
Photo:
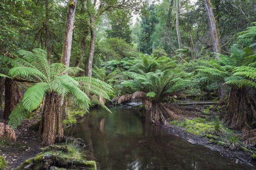
<path id="1" fill-rule="evenodd" d="M 22 101 L 20 101 L 10 114 L 8 125 L 11 125 L 13 129 L 17 128 L 29 113 L 30 112 L 23 107 Z"/>

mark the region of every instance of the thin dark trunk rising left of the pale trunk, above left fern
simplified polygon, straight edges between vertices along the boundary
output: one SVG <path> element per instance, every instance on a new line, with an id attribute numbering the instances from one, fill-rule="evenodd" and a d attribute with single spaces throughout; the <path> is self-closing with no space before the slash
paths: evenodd
<path id="1" fill-rule="evenodd" d="M 49 3 L 46 0 L 46 50 L 47 50 L 47 60 L 49 65 L 51 65 L 51 45 L 50 45 L 50 35 L 49 35 Z"/>

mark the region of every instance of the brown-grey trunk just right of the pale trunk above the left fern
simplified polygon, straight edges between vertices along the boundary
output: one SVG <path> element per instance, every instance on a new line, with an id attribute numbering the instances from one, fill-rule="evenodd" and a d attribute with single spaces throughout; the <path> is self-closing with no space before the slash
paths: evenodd
<path id="1" fill-rule="evenodd" d="M 93 66 L 93 55 L 95 49 L 95 19 L 93 15 L 90 16 L 90 50 L 89 50 L 89 57 L 87 60 L 87 68 L 86 68 L 86 75 L 92 77 L 92 66 Z"/>

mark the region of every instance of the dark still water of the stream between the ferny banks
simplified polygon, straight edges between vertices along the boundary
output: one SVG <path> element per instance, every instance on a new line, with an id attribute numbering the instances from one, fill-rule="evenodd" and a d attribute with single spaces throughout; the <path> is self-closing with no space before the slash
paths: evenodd
<path id="1" fill-rule="evenodd" d="M 93 109 L 67 134 L 84 139 L 98 169 L 251 169 L 142 121 L 139 108 Z"/>

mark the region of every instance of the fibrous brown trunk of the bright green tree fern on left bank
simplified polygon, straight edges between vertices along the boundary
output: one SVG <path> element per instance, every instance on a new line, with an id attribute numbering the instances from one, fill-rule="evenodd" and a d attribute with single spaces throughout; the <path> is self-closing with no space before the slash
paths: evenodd
<path id="1" fill-rule="evenodd" d="M 62 113 L 60 107 L 60 96 L 56 93 L 47 93 L 43 122 L 42 145 L 52 145 L 55 142 L 56 135 L 63 137 Z M 56 131 L 57 130 L 57 131 Z"/>

